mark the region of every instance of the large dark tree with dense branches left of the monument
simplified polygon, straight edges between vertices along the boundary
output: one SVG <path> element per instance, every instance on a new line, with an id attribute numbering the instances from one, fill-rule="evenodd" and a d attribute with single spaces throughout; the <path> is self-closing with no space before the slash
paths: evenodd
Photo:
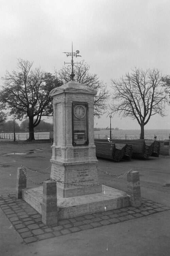
<path id="1" fill-rule="evenodd" d="M 50 91 L 60 84 L 51 73 L 35 68 L 33 62 L 18 60 L 18 71 L 9 73 L 2 80 L 0 107 L 10 109 L 10 115 L 22 120 L 29 118 L 29 139 L 34 140 L 34 128 L 42 116 L 52 115 Z M 34 120 L 35 119 L 35 120 Z"/>

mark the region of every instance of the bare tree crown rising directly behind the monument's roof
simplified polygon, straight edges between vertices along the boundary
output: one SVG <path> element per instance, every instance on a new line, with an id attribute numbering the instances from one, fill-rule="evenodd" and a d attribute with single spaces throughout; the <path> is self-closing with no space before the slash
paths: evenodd
<path id="1" fill-rule="evenodd" d="M 81 64 L 74 64 L 74 80 L 98 91 L 94 97 L 94 115 L 99 118 L 108 108 L 107 102 L 110 95 L 106 84 L 99 80 L 97 74 L 90 74 L 89 69 L 90 66 L 84 61 Z M 70 81 L 71 66 L 63 67 L 55 73 L 62 84 L 67 83 Z"/>

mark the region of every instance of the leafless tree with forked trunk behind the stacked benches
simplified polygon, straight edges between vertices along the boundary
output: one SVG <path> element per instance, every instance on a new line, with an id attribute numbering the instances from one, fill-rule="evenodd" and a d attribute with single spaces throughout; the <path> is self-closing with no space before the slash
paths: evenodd
<path id="1" fill-rule="evenodd" d="M 155 114 L 165 116 L 167 93 L 162 87 L 162 74 L 158 69 L 146 71 L 135 68 L 132 73 L 120 80 L 113 80 L 111 113 L 121 117 L 137 119 L 140 128 L 140 139 L 144 139 L 144 126 Z"/>

